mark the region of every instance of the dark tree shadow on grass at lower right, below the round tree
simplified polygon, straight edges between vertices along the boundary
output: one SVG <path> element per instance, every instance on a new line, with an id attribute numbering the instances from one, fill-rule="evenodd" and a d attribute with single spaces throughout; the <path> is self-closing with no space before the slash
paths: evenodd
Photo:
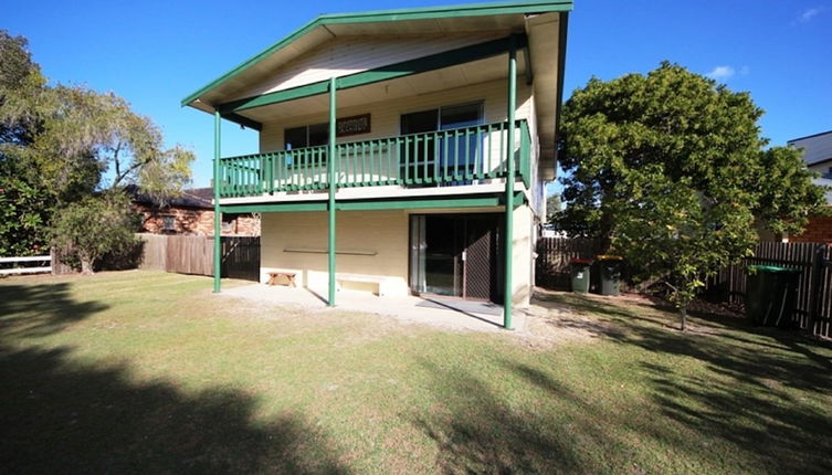
<path id="1" fill-rule="evenodd" d="M 712 334 L 670 329 L 614 303 L 552 296 L 609 317 L 622 329 L 609 337 L 667 359 L 642 361 L 651 398 L 662 413 L 705 437 L 718 437 L 765 461 L 772 473 L 832 473 L 832 349 L 799 335 L 696 315 Z M 680 359 L 681 358 L 681 359 Z M 705 370 L 686 371 L 687 361 Z"/>

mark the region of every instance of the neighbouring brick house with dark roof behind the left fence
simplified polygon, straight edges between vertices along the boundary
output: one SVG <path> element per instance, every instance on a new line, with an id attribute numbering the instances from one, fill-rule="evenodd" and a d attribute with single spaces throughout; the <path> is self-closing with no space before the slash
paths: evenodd
<path id="1" fill-rule="evenodd" d="M 137 188 L 128 192 L 133 196 L 133 207 L 141 214 L 143 233 L 213 235 L 213 189 L 192 188 L 183 190 L 178 198 L 165 207 Z M 260 217 L 252 213 L 223 214 L 222 235 L 259 236 Z"/>

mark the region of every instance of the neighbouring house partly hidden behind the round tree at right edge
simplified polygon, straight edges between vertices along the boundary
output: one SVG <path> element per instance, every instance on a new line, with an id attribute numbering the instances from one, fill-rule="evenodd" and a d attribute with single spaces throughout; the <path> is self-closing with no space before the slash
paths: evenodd
<path id="1" fill-rule="evenodd" d="M 803 150 L 807 167 L 821 173 L 815 184 L 832 187 L 832 130 L 789 140 L 789 145 Z M 832 192 L 826 192 L 826 204 L 832 205 Z M 811 217 L 802 234 L 789 236 L 789 242 L 832 243 L 832 217 Z"/>

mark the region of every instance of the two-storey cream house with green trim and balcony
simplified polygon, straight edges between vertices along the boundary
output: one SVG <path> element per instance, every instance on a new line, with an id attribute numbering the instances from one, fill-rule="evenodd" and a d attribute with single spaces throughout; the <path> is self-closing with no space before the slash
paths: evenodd
<path id="1" fill-rule="evenodd" d="M 186 97 L 215 118 L 218 211 L 262 213 L 262 281 L 294 274 L 330 305 L 338 288 L 492 300 L 510 328 L 555 176 L 571 8 L 326 14 Z M 261 152 L 220 157 L 223 119 L 259 130 Z"/>

